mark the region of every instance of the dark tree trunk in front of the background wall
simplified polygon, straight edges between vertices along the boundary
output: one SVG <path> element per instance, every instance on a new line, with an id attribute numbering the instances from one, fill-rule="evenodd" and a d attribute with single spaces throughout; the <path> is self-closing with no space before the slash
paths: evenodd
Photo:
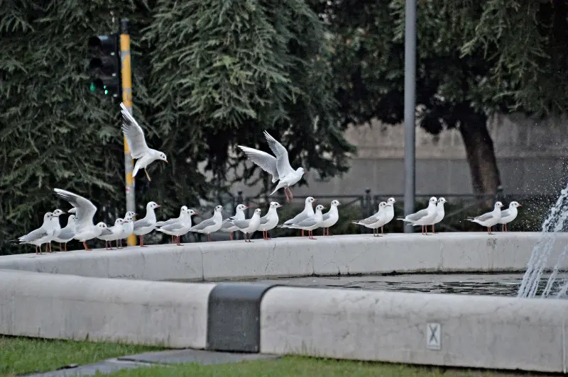
<path id="1" fill-rule="evenodd" d="M 487 130 L 487 117 L 473 109 L 460 117 L 459 133 L 466 147 L 471 184 L 478 198 L 495 195 L 501 186 L 493 140 Z M 493 198 L 487 201 L 493 206 Z"/>

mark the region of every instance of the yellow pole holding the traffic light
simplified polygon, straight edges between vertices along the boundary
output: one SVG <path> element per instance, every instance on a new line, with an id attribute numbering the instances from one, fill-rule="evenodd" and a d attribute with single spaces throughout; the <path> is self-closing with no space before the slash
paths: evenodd
<path id="1" fill-rule="evenodd" d="M 120 60 L 122 77 L 122 102 L 132 113 L 132 72 L 130 66 L 130 21 L 123 18 L 120 21 Z M 133 162 L 130 156 L 130 148 L 124 136 L 124 174 L 126 175 L 126 210 L 136 212 L 136 200 L 134 197 L 134 177 L 132 176 Z M 129 246 L 136 245 L 136 236 L 129 235 Z"/>

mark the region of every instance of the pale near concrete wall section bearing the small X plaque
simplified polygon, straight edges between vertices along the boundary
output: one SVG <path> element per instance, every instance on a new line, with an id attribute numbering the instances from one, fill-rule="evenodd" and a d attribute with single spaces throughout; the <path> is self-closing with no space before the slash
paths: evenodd
<path id="1" fill-rule="evenodd" d="M 568 300 L 274 287 L 261 352 L 567 373 Z"/>

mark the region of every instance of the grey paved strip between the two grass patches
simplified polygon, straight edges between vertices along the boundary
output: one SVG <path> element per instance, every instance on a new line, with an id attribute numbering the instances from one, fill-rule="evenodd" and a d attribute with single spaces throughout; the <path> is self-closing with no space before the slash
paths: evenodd
<path id="1" fill-rule="evenodd" d="M 84 366 L 71 365 L 60 368 L 57 371 L 29 374 L 28 377 L 94 376 L 97 372 L 109 374 L 121 369 L 142 368 L 155 364 L 186 364 L 194 362 L 201 365 L 211 365 L 260 359 L 278 359 L 278 356 L 202 351 L 198 349 L 173 349 L 170 351 L 146 352 L 145 354 L 121 356 L 116 359 L 100 361 L 97 364 Z"/>

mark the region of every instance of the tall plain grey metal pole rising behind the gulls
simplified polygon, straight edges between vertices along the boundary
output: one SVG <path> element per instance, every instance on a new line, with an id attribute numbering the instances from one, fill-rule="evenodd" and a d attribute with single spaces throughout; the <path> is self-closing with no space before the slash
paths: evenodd
<path id="1" fill-rule="evenodd" d="M 404 37 L 404 213 L 414 212 L 416 109 L 416 0 L 406 0 Z M 405 233 L 414 232 L 406 225 Z"/>

